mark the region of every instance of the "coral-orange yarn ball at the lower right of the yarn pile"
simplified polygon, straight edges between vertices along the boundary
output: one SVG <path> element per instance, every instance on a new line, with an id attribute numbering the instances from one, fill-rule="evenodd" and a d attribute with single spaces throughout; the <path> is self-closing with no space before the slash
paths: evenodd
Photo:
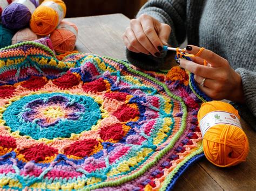
<path id="1" fill-rule="evenodd" d="M 77 33 L 78 29 L 75 24 L 62 21 L 50 35 L 53 49 L 57 53 L 73 51 L 76 45 Z"/>

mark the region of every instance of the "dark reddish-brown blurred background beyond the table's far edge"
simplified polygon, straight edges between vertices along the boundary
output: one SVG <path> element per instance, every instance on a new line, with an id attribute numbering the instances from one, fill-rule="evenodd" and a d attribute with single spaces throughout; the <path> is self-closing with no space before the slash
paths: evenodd
<path id="1" fill-rule="evenodd" d="M 85 17 L 123 13 L 126 17 L 134 18 L 147 0 L 63 0 L 68 17 Z M 42 2 L 40 0 L 40 2 Z"/>

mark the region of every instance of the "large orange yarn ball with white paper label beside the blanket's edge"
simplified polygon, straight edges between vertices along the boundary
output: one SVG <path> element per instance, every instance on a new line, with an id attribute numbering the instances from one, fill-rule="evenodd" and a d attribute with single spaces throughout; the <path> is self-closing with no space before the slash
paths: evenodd
<path id="1" fill-rule="evenodd" d="M 212 101 L 201 105 L 198 121 L 203 148 L 212 164 L 230 167 L 246 160 L 249 143 L 245 132 L 238 127 L 239 119 L 238 111 L 231 104 Z"/>

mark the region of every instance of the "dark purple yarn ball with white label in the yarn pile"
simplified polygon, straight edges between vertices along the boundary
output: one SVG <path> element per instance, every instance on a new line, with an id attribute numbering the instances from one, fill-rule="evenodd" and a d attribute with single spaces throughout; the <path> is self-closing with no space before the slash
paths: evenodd
<path id="1" fill-rule="evenodd" d="M 16 0 L 3 10 L 2 22 L 8 29 L 22 29 L 29 25 L 37 6 L 38 0 Z"/>

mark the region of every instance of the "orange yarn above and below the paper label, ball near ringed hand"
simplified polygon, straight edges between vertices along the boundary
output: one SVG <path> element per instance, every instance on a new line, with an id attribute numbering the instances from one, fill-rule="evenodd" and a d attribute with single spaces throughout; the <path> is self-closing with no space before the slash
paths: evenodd
<path id="1" fill-rule="evenodd" d="M 240 119 L 238 111 L 231 104 L 212 101 L 201 105 L 198 111 L 198 121 L 212 111 L 230 112 Z M 203 148 L 206 158 L 212 164 L 230 167 L 246 160 L 249 143 L 245 132 L 237 126 L 215 124 L 206 131 L 203 137 Z"/>

